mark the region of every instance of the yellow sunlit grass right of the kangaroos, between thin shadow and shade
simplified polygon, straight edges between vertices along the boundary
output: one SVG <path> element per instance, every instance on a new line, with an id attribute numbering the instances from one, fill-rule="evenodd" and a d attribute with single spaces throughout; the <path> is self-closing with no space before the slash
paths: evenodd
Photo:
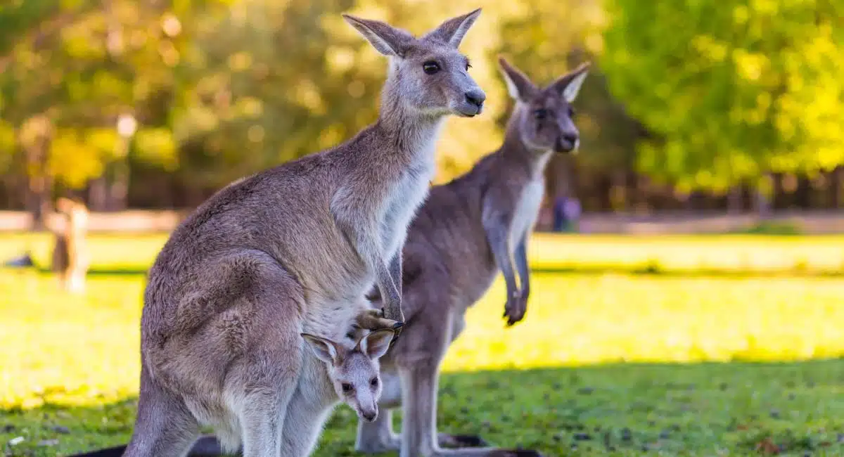
<path id="1" fill-rule="evenodd" d="M 844 278 L 539 273 L 532 288 L 526 320 L 505 330 L 495 282 L 446 370 L 844 355 Z"/>

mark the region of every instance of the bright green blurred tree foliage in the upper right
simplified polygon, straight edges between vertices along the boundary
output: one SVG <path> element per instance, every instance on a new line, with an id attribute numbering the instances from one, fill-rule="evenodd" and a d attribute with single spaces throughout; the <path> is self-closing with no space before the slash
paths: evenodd
<path id="1" fill-rule="evenodd" d="M 603 68 L 657 139 L 638 163 L 687 190 L 844 163 L 844 2 L 607 0 Z"/>

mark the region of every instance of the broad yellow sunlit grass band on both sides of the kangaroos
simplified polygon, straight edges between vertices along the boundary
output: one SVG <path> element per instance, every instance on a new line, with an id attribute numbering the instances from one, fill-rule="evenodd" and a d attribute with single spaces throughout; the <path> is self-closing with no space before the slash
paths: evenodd
<path id="1" fill-rule="evenodd" d="M 620 361 L 844 355 L 844 279 L 535 274 L 527 318 L 505 329 L 503 285 L 468 312 L 446 371 Z M 87 404 L 137 390 L 142 275 L 0 276 L 0 405 Z"/>

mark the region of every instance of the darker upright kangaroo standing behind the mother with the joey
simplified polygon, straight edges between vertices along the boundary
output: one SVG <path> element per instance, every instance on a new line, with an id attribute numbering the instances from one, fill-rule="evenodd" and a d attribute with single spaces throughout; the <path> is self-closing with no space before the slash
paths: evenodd
<path id="1" fill-rule="evenodd" d="M 408 230 L 403 248 L 407 325 L 402 340 L 381 360 L 386 386 L 382 413 L 375 422 L 359 421 L 358 451 L 400 450 L 401 457 L 539 455 L 533 450 L 468 448 L 464 446 L 483 445 L 484 440 L 436 433 L 440 365 L 463 331 L 466 309 L 500 271 L 506 282 L 506 324 L 524 318 L 530 293 L 527 237 L 544 195 L 544 168 L 552 153 L 571 152 L 580 143 L 571 103 L 588 63 L 544 89 L 505 59 L 499 63 L 516 99 L 504 143 L 465 175 L 432 188 Z M 371 298 L 377 300 L 378 292 L 372 291 Z M 400 437 L 392 432 L 390 411 L 399 406 Z"/>

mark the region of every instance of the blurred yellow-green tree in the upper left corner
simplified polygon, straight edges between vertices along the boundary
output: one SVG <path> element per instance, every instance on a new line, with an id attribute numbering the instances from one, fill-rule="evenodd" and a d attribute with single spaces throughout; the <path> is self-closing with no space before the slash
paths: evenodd
<path id="1" fill-rule="evenodd" d="M 0 27 L 14 24 L 0 33 L 0 133 L 3 126 L 16 130 L 36 226 L 54 179 L 79 188 L 111 171 L 111 183 L 102 183 L 111 188 L 94 189 L 112 197 L 111 208 L 125 206 L 129 138 L 118 134 L 121 115 L 143 122 L 140 158 L 172 162 L 175 148 L 163 147 L 166 139 L 155 128 L 169 116 L 160 101 L 172 97 L 177 76 L 172 68 L 187 43 L 192 15 L 220 2 L 27 0 L 0 10 Z M 149 144 L 154 152 L 144 149 Z M 7 157 L 15 150 L 8 144 L 0 148 Z M 104 199 L 94 200 L 93 209 L 105 209 Z"/>

